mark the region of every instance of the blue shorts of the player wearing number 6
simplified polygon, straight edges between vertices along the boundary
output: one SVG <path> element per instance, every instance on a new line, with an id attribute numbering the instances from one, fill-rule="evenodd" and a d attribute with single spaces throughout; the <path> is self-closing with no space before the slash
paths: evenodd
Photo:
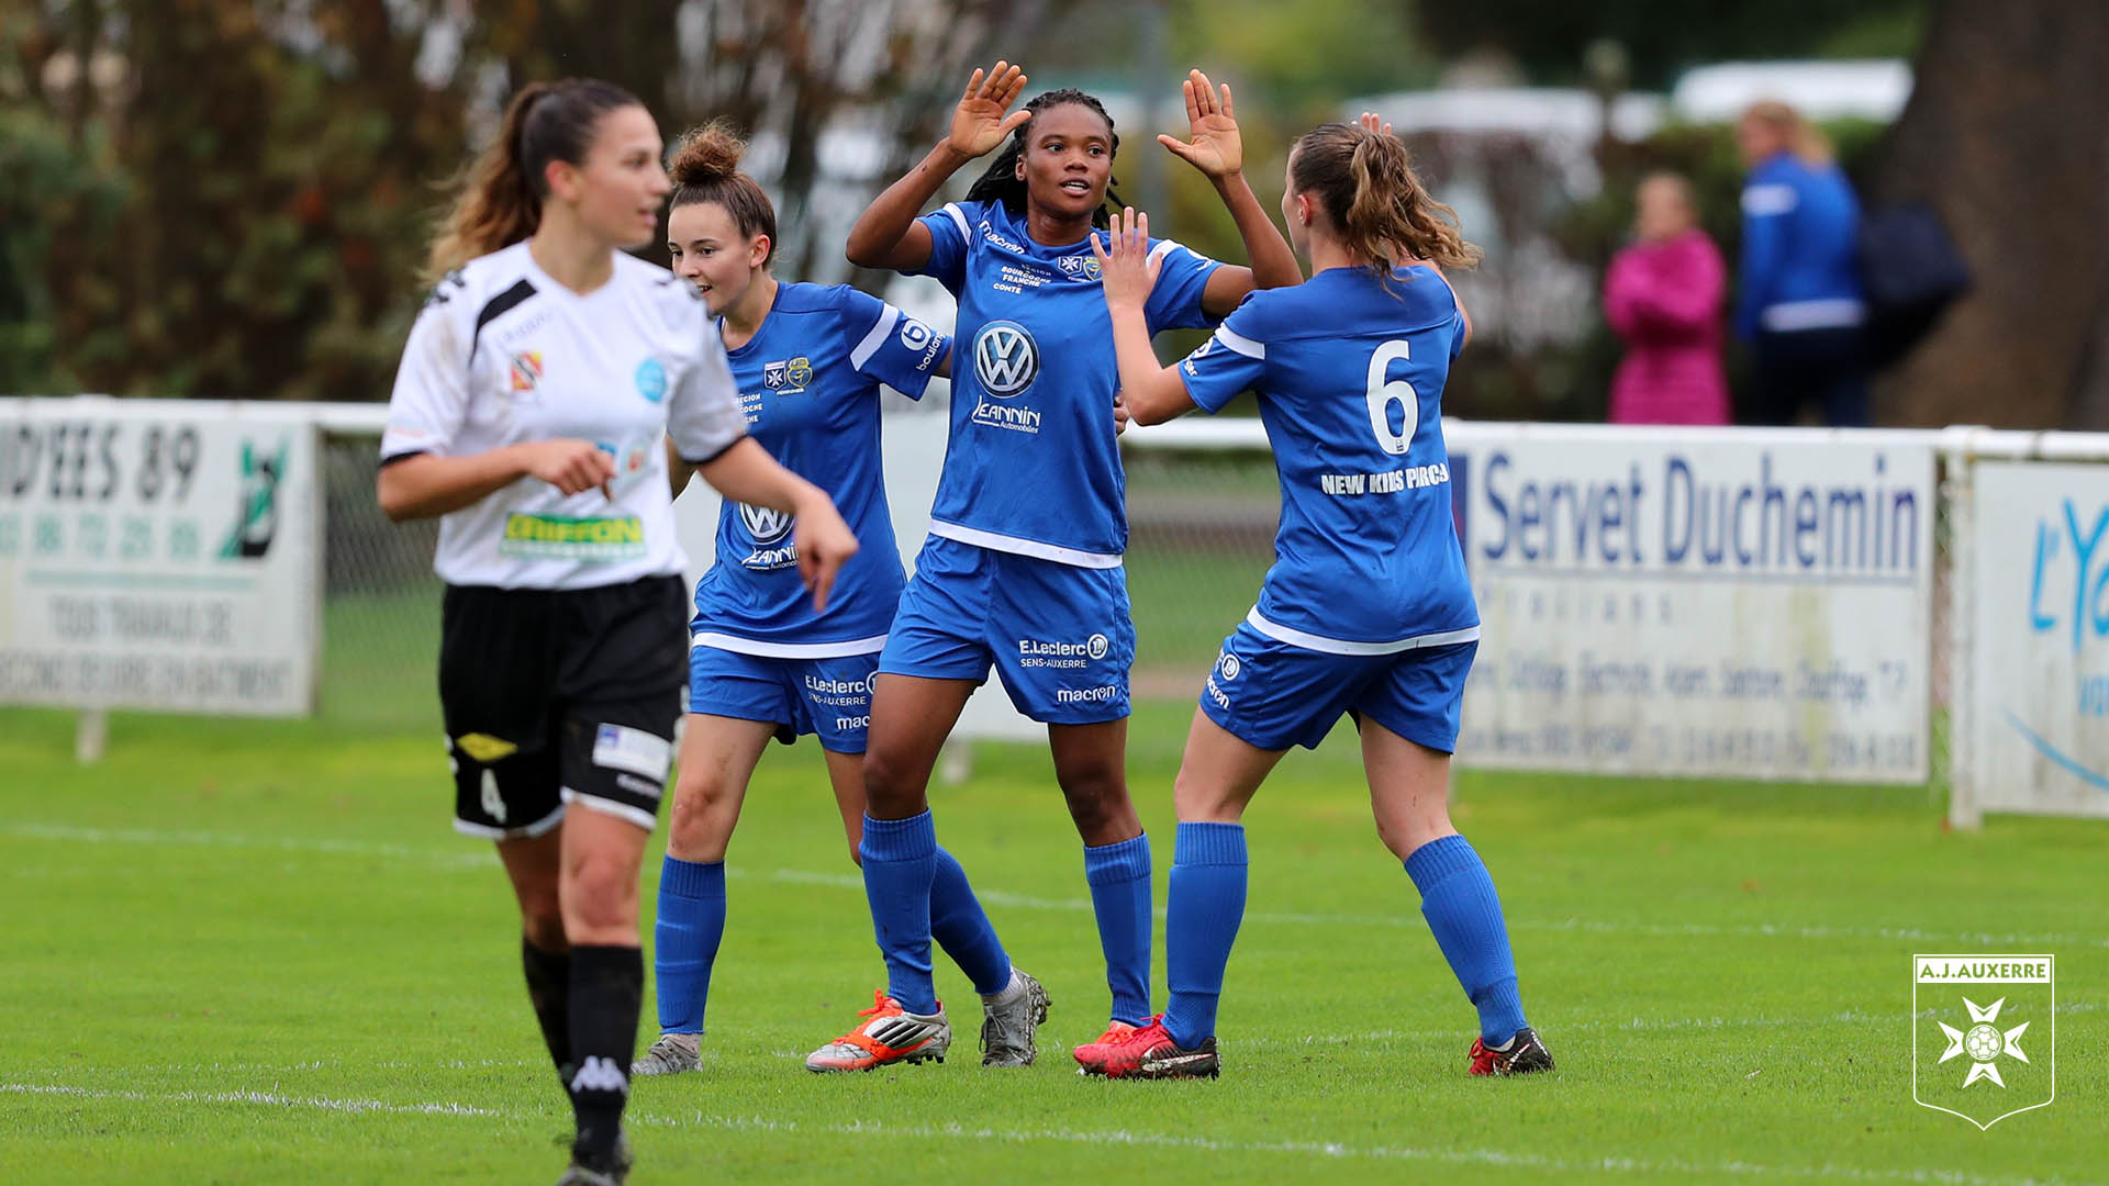
<path id="1" fill-rule="evenodd" d="M 1392 654 L 1331 654 L 1240 623 L 1215 656 L 1200 709 L 1259 749 L 1318 749 L 1341 713 L 1358 713 L 1407 741 L 1451 753 L 1474 652 L 1476 642 L 1459 642 Z"/>

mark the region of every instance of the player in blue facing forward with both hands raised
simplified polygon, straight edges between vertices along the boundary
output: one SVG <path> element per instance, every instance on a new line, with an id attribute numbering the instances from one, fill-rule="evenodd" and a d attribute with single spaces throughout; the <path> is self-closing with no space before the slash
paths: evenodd
<path id="1" fill-rule="evenodd" d="M 1099 264 L 1086 241 L 1105 219 L 1120 137 L 1082 91 L 1010 112 L 1025 74 L 974 72 L 943 144 L 856 222 L 848 255 L 924 272 L 960 300 L 951 441 L 930 540 L 879 656 L 865 753 L 860 844 L 873 929 L 888 964 L 877 1013 L 837 1047 L 860 1066 L 909 1057 L 949 1032 L 930 988 L 930 888 L 939 861 L 924 789 L 976 684 L 998 677 L 1048 726 L 1054 779 L 1084 838 L 1099 918 L 1109 1034 L 1149 1017 L 1149 838 L 1126 785 L 1135 627 L 1120 570 L 1126 500 L 1114 443 L 1114 352 Z M 1208 175 L 1253 268 L 1152 245 L 1164 283 L 1149 329 L 1204 325 L 1257 285 L 1301 279 L 1295 255 L 1244 184 L 1230 89 L 1185 84 L 1192 139 L 1158 137 Z M 1002 152 L 964 203 L 915 217 L 968 160 Z"/>

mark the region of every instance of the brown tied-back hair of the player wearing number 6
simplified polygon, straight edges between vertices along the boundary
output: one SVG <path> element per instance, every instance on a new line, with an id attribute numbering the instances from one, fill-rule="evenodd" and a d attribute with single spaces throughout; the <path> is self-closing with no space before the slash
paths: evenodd
<path id="1" fill-rule="evenodd" d="M 1457 230 L 1457 213 L 1428 194 L 1396 137 L 1320 125 L 1291 150 L 1289 181 L 1318 200 L 1341 247 L 1369 260 L 1379 276 L 1409 260 L 1443 268 L 1481 260 Z"/>

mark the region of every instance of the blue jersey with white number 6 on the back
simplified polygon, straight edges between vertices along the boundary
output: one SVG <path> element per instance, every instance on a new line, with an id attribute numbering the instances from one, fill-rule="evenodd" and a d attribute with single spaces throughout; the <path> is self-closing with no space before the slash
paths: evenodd
<path id="1" fill-rule="evenodd" d="M 1179 363 L 1206 412 L 1257 390 L 1274 445 L 1282 525 L 1253 629 L 1335 654 L 1478 637 L 1443 447 L 1462 346 L 1464 312 L 1432 268 L 1400 268 L 1390 287 L 1327 268 L 1251 293 Z"/>

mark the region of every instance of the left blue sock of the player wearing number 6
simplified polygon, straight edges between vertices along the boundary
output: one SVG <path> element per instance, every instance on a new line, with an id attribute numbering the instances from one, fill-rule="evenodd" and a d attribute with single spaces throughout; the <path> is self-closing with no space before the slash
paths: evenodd
<path id="1" fill-rule="evenodd" d="M 1170 903 L 1164 912 L 1164 969 L 1170 1007 L 1164 1028 L 1179 1049 L 1215 1036 L 1223 967 L 1244 920 L 1244 825 L 1181 823 L 1173 846 Z"/>

